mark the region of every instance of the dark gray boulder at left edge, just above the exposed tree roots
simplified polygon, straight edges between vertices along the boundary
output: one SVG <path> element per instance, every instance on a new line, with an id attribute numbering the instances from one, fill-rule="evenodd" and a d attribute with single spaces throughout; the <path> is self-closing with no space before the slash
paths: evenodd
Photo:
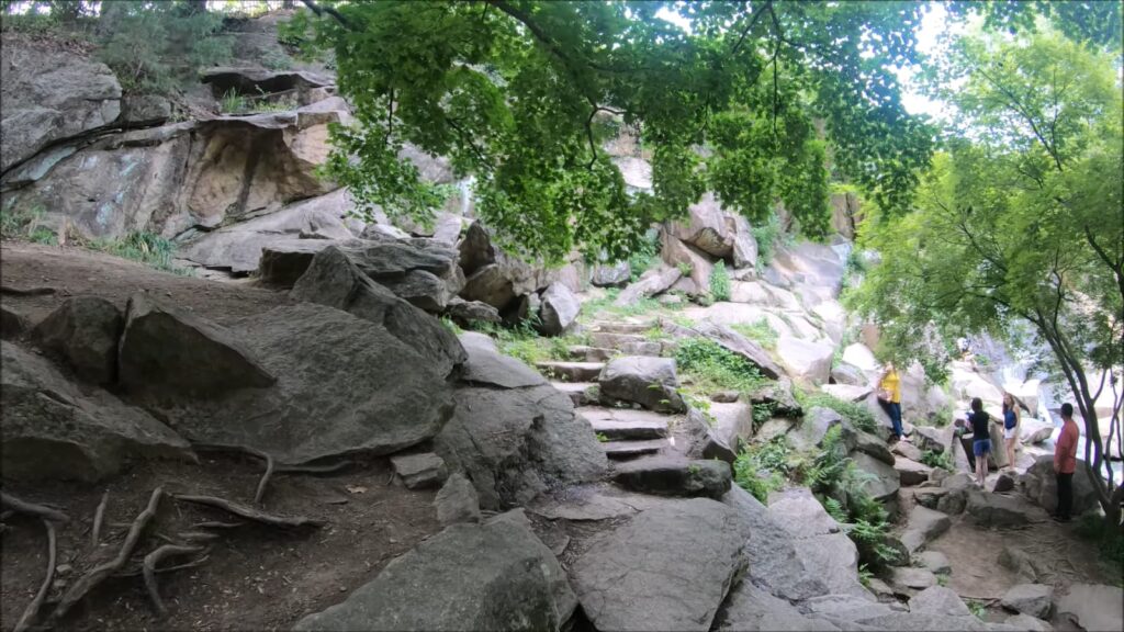
<path id="1" fill-rule="evenodd" d="M 147 413 L 98 388 L 80 390 L 10 342 L 0 349 L 6 478 L 92 482 L 117 473 L 128 459 L 194 460 L 188 443 Z"/>

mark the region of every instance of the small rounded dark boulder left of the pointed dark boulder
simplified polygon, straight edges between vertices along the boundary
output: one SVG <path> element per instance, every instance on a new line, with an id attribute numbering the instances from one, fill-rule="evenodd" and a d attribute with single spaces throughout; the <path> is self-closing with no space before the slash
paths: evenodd
<path id="1" fill-rule="evenodd" d="M 98 297 L 66 299 L 35 326 L 39 346 L 65 361 L 89 382 L 117 379 L 117 343 L 125 320 L 116 305 Z"/>

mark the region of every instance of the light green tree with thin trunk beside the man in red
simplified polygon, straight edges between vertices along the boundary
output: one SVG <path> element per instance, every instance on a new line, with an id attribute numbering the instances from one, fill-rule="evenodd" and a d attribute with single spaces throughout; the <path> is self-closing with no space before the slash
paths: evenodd
<path id="1" fill-rule="evenodd" d="M 1104 458 L 1095 401 L 1115 392 L 1124 358 L 1120 57 L 1040 22 L 963 38 L 933 79 L 962 124 L 916 210 L 864 227 L 882 262 L 851 300 L 903 343 L 932 326 L 1032 332 L 1085 419 L 1086 466 L 1115 524 L 1124 487 Z M 1111 423 L 1120 395 L 1114 404 Z"/>

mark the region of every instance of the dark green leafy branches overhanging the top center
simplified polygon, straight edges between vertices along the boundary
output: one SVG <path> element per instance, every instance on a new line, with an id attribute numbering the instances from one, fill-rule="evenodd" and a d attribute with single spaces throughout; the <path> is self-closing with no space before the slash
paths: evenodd
<path id="1" fill-rule="evenodd" d="M 400 152 L 448 156 L 505 245 L 549 260 L 623 259 L 706 190 L 754 220 L 781 200 L 823 234 L 828 144 L 885 208 L 931 152 L 890 71 L 915 57 L 912 1 L 303 3 L 285 38 L 335 53 L 357 120 L 334 128 L 329 173 L 424 218 L 435 198 Z M 653 195 L 626 193 L 605 120 L 638 130 Z"/>

